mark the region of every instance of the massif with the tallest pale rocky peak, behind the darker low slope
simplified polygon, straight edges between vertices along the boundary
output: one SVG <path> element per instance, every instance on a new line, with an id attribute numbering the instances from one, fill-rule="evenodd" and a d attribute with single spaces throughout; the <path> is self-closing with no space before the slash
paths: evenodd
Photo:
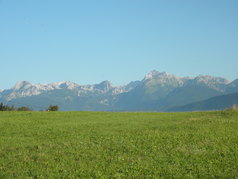
<path id="1" fill-rule="evenodd" d="M 127 93 L 118 95 L 114 109 L 118 111 L 165 111 L 172 106 L 186 105 L 226 94 L 230 82 L 224 78 L 199 75 L 177 77 L 152 71 Z M 230 87 L 230 85 L 229 85 Z M 237 90 L 237 84 L 232 90 Z M 237 90 L 238 92 L 238 90 Z"/>

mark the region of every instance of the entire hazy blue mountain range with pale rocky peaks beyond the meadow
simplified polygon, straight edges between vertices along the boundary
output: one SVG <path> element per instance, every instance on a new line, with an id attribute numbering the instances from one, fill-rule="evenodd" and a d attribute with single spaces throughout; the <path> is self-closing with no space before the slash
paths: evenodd
<path id="1" fill-rule="evenodd" d="M 217 110 L 232 106 L 238 100 L 238 79 L 221 77 L 177 77 L 166 72 L 152 71 L 144 79 L 124 86 L 110 81 L 80 85 L 70 81 L 31 84 L 19 81 L 11 89 L 0 90 L 0 102 L 44 110 L 50 104 L 60 110 L 85 111 L 191 111 Z M 214 97 L 220 102 L 214 101 Z M 226 98 L 227 96 L 227 98 Z M 201 102 L 205 100 L 204 102 Z M 222 103 L 222 101 L 226 103 Z M 199 105 L 195 105 L 195 103 Z M 193 107 L 191 107 L 192 105 Z M 203 107 L 204 106 L 204 107 Z"/>

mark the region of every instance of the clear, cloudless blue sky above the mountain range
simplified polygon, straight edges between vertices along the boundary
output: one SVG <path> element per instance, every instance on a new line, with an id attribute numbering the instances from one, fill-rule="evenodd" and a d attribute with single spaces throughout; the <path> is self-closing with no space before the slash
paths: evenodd
<path id="1" fill-rule="evenodd" d="M 154 69 L 238 78 L 238 1 L 0 0 L 0 89 Z"/>

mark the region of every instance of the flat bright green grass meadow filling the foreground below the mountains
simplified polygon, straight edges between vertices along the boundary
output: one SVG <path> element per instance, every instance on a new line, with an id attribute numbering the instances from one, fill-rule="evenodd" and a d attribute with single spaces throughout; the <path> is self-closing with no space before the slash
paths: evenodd
<path id="1" fill-rule="evenodd" d="M 0 112 L 0 178 L 238 178 L 238 111 Z"/>

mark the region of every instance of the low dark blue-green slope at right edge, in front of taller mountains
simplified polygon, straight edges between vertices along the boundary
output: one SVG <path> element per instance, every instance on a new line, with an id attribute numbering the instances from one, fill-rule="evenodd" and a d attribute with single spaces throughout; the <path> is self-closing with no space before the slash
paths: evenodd
<path id="1" fill-rule="evenodd" d="M 208 111 L 208 110 L 222 110 L 238 104 L 238 93 L 227 94 L 209 98 L 207 100 L 187 104 L 184 106 L 172 107 L 167 111 Z"/>

